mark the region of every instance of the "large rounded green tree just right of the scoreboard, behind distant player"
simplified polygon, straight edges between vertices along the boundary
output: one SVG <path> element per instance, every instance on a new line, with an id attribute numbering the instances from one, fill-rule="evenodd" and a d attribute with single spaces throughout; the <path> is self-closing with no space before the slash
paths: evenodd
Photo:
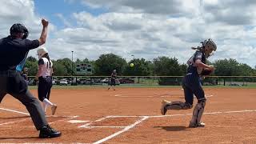
<path id="1" fill-rule="evenodd" d="M 94 62 L 95 75 L 110 75 L 113 70 L 117 70 L 122 75 L 126 66 L 126 60 L 115 54 L 102 54 Z"/>

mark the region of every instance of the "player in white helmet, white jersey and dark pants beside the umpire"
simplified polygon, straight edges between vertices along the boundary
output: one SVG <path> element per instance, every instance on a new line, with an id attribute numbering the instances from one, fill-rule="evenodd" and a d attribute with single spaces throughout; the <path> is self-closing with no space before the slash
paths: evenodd
<path id="1" fill-rule="evenodd" d="M 46 48 L 38 49 L 38 73 L 36 79 L 38 79 L 38 98 L 42 102 L 42 108 L 46 113 L 47 106 L 51 106 L 51 114 L 55 114 L 57 105 L 50 102 L 50 89 L 52 84 L 53 74 L 53 62 L 50 61 L 50 57 Z"/>

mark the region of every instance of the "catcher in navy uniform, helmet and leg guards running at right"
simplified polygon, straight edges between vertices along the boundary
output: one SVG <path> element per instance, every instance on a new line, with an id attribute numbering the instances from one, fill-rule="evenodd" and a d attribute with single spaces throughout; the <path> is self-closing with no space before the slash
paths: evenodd
<path id="1" fill-rule="evenodd" d="M 193 107 L 194 95 L 198 99 L 198 103 L 194 106 L 192 119 L 190 120 L 189 127 L 203 127 L 205 123 L 201 122 L 202 113 L 206 106 L 206 96 L 200 77 L 205 77 L 214 71 L 213 66 L 206 65 L 206 58 L 209 58 L 213 51 L 217 50 L 216 44 L 211 40 L 202 42 L 202 46 L 197 48 L 193 56 L 187 61 L 189 65 L 186 75 L 182 79 L 182 87 L 185 94 L 185 102 L 169 102 L 162 100 L 161 114 L 165 115 L 167 110 L 187 110 Z"/>

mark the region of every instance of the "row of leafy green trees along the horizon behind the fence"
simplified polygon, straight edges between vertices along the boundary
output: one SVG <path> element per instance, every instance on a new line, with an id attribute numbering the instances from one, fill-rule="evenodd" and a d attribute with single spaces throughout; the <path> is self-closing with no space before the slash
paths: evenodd
<path id="1" fill-rule="evenodd" d="M 85 58 L 72 62 L 70 58 L 52 60 L 54 63 L 54 75 L 71 76 L 76 75 L 76 65 L 80 63 L 90 63 L 93 66 L 93 75 L 108 76 L 115 69 L 118 75 L 123 76 L 182 76 L 186 74 L 186 64 L 178 63 L 177 58 L 158 57 L 153 61 L 146 61 L 144 58 L 134 58 L 129 62 L 116 54 L 102 54 L 95 61 Z M 134 63 L 131 67 L 130 63 Z M 254 76 L 254 68 L 239 63 L 235 59 L 222 59 L 215 62 L 207 62 L 216 68 L 213 75 L 217 76 Z M 26 67 L 29 68 L 29 75 L 34 76 L 38 70 L 38 60 L 34 57 L 26 59 Z"/>

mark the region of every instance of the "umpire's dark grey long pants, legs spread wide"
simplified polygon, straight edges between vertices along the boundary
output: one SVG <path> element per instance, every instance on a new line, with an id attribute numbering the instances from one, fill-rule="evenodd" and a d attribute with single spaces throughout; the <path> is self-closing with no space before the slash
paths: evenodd
<path id="1" fill-rule="evenodd" d="M 0 102 L 6 94 L 12 95 L 26 106 L 37 130 L 48 125 L 40 102 L 30 93 L 25 79 L 16 70 L 0 71 Z"/>

